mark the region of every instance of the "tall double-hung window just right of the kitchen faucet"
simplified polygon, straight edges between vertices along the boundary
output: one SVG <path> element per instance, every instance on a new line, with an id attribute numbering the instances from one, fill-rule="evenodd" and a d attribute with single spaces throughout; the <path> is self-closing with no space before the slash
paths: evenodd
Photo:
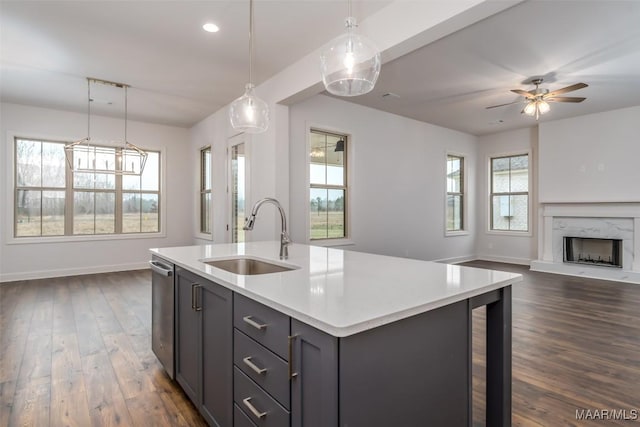
<path id="1" fill-rule="evenodd" d="M 347 135 L 311 130 L 309 237 L 347 237 Z"/>

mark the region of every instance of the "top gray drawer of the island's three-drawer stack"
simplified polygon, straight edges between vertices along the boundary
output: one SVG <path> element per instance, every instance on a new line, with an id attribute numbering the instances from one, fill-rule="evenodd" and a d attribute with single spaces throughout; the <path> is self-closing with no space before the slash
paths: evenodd
<path id="1" fill-rule="evenodd" d="M 278 356 L 288 360 L 289 316 L 235 294 L 233 325 Z"/>

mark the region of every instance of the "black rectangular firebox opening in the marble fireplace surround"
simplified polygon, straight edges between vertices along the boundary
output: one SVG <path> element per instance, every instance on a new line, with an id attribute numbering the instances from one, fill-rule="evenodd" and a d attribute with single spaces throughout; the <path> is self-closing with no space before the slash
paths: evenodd
<path id="1" fill-rule="evenodd" d="M 564 237 L 564 262 L 622 268 L 622 239 Z"/>

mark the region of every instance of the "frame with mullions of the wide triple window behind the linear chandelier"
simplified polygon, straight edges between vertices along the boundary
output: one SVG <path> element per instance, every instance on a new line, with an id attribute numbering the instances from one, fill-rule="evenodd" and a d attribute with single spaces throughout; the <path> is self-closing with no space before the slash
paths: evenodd
<path id="1" fill-rule="evenodd" d="M 25 136 L 28 134 L 29 136 Z M 5 218 L 6 222 L 4 224 L 4 229 L 6 230 L 6 240 L 7 244 L 33 244 L 33 243 L 64 243 L 64 242 L 79 242 L 79 241 L 107 241 L 107 240 L 130 240 L 130 239 L 149 239 L 149 238 L 159 238 L 166 237 L 166 202 L 164 197 L 164 188 L 165 188 L 165 173 L 166 170 L 166 156 L 164 148 L 153 148 L 146 149 L 147 151 L 157 153 L 159 156 L 159 164 L 158 164 L 158 190 L 127 190 L 123 189 L 122 185 L 118 187 L 116 184 L 115 190 L 106 190 L 108 192 L 116 193 L 116 203 L 114 207 L 114 215 L 116 219 L 114 220 L 116 224 L 120 224 L 119 230 L 120 233 L 105 233 L 105 234 L 73 234 L 73 194 L 74 191 L 93 191 L 93 192 L 103 192 L 103 189 L 78 189 L 73 188 L 73 174 L 70 173 L 70 167 L 66 162 L 65 158 L 65 187 L 57 189 L 59 191 L 65 192 L 65 234 L 63 235 L 39 235 L 39 236 L 16 236 L 16 224 L 17 224 L 17 203 L 16 196 L 18 191 L 17 181 L 16 181 L 16 173 L 17 173 L 17 140 L 29 140 L 29 141 L 39 141 L 39 142 L 49 142 L 49 143 L 60 143 L 67 144 L 70 141 L 68 137 L 61 136 L 51 136 L 51 135 L 39 135 L 29 133 L 7 133 L 7 141 L 10 141 L 7 144 L 8 148 L 8 156 L 6 160 L 6 194 L 11 195 L 12 201 L 6 204 L 5 208 Z M 109 144 L 101 144 L 102 146 L 109 148 L 119 148 L 118 146 L 109 145 Z M 117 180 L 121 182 L 121 178 L 116 175 Z M 32 187 L 35 190 L 46 191 L 45 187 Z M 20 187 L 20 189 L 28 189 Z M 122 200 L 118 200 L 118 197 L 122 198 L 122 193 L 154 193 L 158 196 L 158 231 L 144 231 L 144 232 L 122 232 Z M 71 209 L 71 215 L 67 215 Z M 116 227 L 118 227 L 116 225 Z M 118 229 L 118 228 L 116 228 Z"/>

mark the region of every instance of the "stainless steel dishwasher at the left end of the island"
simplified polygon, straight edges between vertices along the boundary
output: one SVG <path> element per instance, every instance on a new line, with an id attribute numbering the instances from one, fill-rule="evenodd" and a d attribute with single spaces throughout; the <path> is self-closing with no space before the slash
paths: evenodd
<path id="1" fill-rule="evenodd" d="M 155 255 L 151 267 L 151 349 L 171 378 L 174 369 L 174 284 L 173 264 Z"/>

